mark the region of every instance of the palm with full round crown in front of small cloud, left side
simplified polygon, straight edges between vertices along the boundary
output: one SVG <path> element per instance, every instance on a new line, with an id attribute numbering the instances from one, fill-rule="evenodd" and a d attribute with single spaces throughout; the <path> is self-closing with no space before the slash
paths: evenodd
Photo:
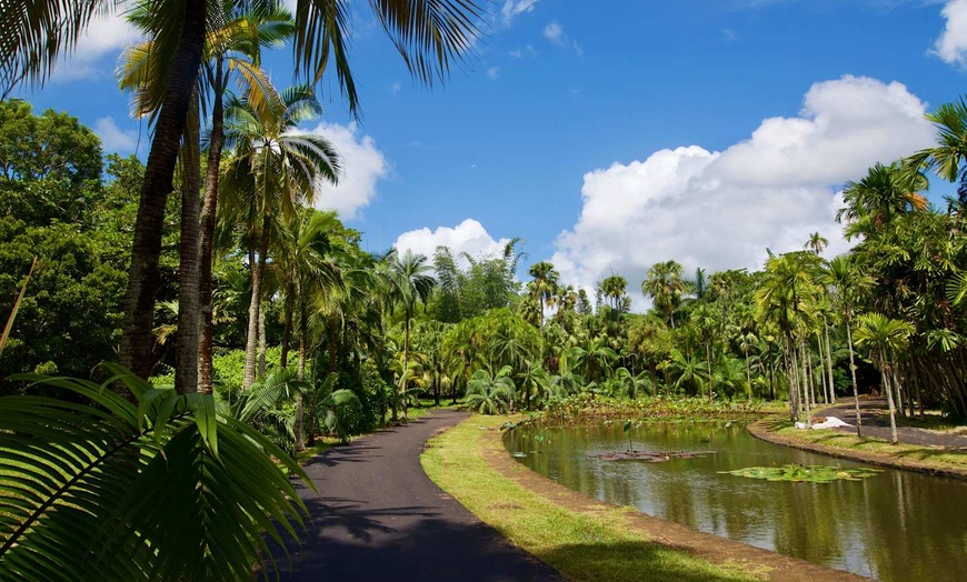
<path id="1" fill-rule="evenodd" d="M 245 215 L 252 241 L 249 258 L 252 301 L 246 339 L 246 371 L 242 387 L 256 380 L 261 287 L 271 240 L 272 215 L 292 217 L 301 202 L 311 202 L 318 181 L 337 182 L 339 157 L 321 136 L 293 133 L 298 124 L 321 112 L 315 93 L 295 87 L 279 94 L 279 100 L 253 102 L 235 98 L 227 110 L 226 136 L 235 146 L 226 169 L 225 185 L 236 213 Z M 258 244 L 258 250 L 252 252 Z"/>

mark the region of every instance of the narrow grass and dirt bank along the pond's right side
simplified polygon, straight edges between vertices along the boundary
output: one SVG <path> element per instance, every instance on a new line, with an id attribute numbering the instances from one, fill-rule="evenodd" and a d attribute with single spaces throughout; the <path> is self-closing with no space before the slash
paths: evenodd
<path id="1" fill-rule="evenodd" d="M 774 444 L 878 466 L 967 480 L 967 451 L 960 449 L 904 442 L 891 445 L 879 439 L 860 439 L 846 431 L 798 430 L 781 415 L 752 422 L 748 430 L 752 436 Z"/>

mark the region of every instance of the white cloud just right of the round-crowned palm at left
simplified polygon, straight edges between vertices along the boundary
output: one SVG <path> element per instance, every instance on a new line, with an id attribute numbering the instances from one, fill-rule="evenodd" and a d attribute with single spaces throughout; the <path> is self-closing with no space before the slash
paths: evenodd
<path id="1" fill-rule="evenodd" d="M 339 152 L 342 171 L 339 184 L 320 183 L 316 191 L 316 208 L 335 210 L 343 220 L 355 219 L 376 195 L 377 182 L 386 178 L 389 163 L 369 136 L 359 136 L 356 123 L 319 123 L 308 133 L 329 140 Z"/>

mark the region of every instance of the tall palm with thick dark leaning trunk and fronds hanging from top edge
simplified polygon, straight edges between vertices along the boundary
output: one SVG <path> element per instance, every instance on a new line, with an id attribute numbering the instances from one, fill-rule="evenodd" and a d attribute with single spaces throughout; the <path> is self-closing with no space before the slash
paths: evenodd
<path id="1" fill-rule="evenodd" d="M 120 360 L 147 378 L 152 365 L 152 313 L 160 287 L 158 260 L 165 207 L 171 191 L 179 144 L 183 134 L 206 39 L 217 0 L 159 0 L 153 6 L 157 51 L 170 58 L 170 74 L 161 83 L 154 137 L 148 154 L 134 223 L 131 269 L 124 301 Z M 235 0 L 241 4 L 243 0 Z M 250 0 L 245 0 L 250 1 Z M 255 1 L 255 0 L 252 0 Z M 0 22 L 8 31 L 0 39 L 0 94 L 22 83 L 43 84 L 53 63 L 69 52 L 91 20 L 119 6 L 114 0 L 12 0 L 0 3 Z M 276 6 L 260 0 L 259 6 Z M 373 0 L 378 21 L 402 56 L 410 72 L 427 84 L 445 79 L 450 64 L 472 47 L 481 10 L 473 0 Z M 351 7 L 339 0 L 297 0 L 296 61 L 313 83 L 322 78 L 330 58 L 350 110 L 359 100 L 349 64 Z"/>

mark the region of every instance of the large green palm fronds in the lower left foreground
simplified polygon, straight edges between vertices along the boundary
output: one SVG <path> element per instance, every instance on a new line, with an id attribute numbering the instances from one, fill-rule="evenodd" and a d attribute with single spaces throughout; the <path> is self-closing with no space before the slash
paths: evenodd
<path id="1" fill-rule="evenodd" d="M 108 370 L 102 384 L 17 378 L 89 404 L 0 399 L 0 581 L 250 579 L 306 511 L 272 458 L 311 488 L 305 472 L 211 395 Z"/>

